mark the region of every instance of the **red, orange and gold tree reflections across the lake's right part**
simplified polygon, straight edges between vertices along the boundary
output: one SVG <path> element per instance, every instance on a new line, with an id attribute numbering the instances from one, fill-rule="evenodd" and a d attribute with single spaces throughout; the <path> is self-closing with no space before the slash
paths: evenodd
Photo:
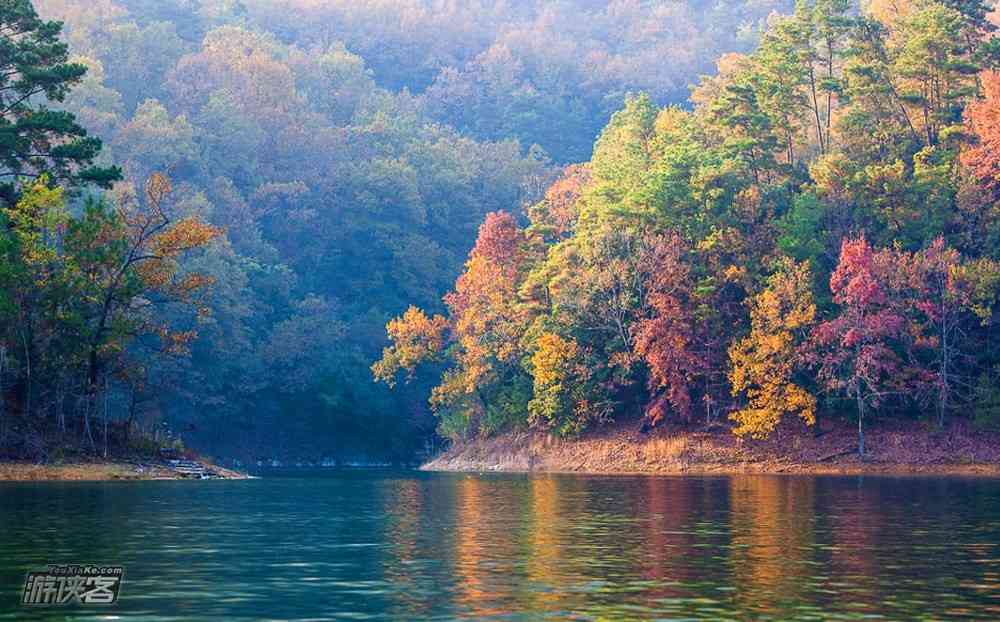
<path id="1" fill-rule="evenodd" d="M 384 577 L 391 611 L 407 619 L 955 612 L 989 597 L 976 590 L 996 584 L 990 565 L 970 557 L 995 559 L 1000 545 L 995 531 L 969 530 L 996 501 L 955 509 L 949 486 L 759 475 L 399 481 L 383 500 Z M 923 603 L 942 576 L 948 594 Z"/>

